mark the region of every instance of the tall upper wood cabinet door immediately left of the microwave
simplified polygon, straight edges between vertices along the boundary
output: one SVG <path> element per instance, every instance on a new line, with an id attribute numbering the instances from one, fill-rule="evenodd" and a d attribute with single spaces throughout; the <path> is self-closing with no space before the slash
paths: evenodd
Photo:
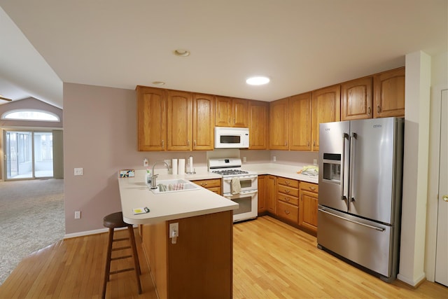
<path id="1" fill-rule="evenodd" d="M 213 151 L 215 96 L 193 94 L 193 150 Z"/>

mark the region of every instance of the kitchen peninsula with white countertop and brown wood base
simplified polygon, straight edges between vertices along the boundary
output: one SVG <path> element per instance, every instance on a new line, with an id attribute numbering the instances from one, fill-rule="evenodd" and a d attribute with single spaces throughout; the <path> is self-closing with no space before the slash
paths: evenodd
<path id="1" fill-rule="evenodd" d="M 159 298 L 232 298 L 232 210 L 238 204 L 199 186 L 155 194 L 139 171 L 118 181 L 123 220 L 139 225 Z M 138 207 L 150 211 L 134 215 Z M 170 223 L 179 224 L 176 238 L 170 238 Z"/>

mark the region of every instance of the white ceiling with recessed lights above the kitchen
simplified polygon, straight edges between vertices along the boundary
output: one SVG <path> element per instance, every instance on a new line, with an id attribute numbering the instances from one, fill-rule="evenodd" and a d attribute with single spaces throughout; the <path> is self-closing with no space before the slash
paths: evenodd
<path id="1" fill-rule="evenodd" d="M 0 7 L 0 94 L 58 107 L 62 82 L 133 90 L 165 81 L 164 88 L 270 102 L 401 67 L 416 50 L 447 51 L 447 0 L 0 0 Z M 179 48 L 191 55 L 176 57 Z M 259 74 L 271 83 L 246 85 Z"/>

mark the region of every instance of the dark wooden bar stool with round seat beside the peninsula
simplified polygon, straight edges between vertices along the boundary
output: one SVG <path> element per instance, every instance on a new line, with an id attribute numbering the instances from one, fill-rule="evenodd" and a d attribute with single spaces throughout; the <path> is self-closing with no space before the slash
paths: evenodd
<path id="1" fill-rule="evenodd" d="M 134 228 L 132 228 L 132 224 L 125 223 L 125 221 L 123 221 L 123 213 L 119 211 L 119 212 L 105 216 L 104 217 L 104 226 L 106 228 L 109 228 L 109 242 L 107 245 L 106 271 L 104 272 L 104 284 L 103 284 L 102 298 L 106 297 L 107 281 L 109 281 L 109 276 L 111 274 L 132 271 L 132 270 L 135 270 L 135 276 L 137 277 L 137 285 L 139 286 L 139 294 L 141 294 L 141 284 L 140 284 L 140 276 L 139 276 L 141 274 L 141 270 L 140 270 L 139 256 L 137 255 L 137 246 L 135 244 Z M 129 232 L 129 237 L 113 239 L 113 232 L 114 232 L 115 228 L 126 228 L 126 227 L 127 227 L 127 231 Z M 130 246 L 113 248 L 113 242 L 119 242 L 119 241 L 124 241 L 124 240 L 129 240 Z M 132 248 L 131 256 L 117 256 L 115 258 L 111 257 L 112 251 L 120 251 L 120 250 L 130 249 L 130 248 Z M 120 260 L 123 258 L 131 258 L 131 257 L 134 260 L 134 267 L 111 272 L 111 261 L 112 260 Z"/>

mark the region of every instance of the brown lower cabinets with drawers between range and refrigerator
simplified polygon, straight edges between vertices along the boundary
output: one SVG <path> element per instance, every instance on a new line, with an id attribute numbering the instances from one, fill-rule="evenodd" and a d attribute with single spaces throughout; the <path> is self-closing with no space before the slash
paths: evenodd
<path id="1" fill-rule="evenodd" d="M 317 234 L 318 184 L 282 176 L 258 176 L 258 214 L 269 214 Z"/>

